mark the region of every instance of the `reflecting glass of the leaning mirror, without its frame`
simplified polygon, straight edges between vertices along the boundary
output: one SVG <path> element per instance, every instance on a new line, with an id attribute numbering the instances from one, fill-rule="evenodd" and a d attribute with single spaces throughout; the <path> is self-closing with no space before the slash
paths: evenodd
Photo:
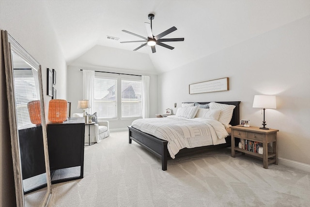
<path id="1" fill-rule="evenodd" d="M 15 101 L 24 193 L 47 184 L 38 71 L 12 51 Z"/>

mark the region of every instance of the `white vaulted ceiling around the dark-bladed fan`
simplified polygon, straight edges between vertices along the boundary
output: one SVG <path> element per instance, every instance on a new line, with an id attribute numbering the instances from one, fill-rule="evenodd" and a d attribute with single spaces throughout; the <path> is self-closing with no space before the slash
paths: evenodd
<path id="1" fill-rule="evenodd" d="M 310 1 L 48 0 L 46 7 L 67 64 L 123 67 L 117 62 L 124 60 L 130 62 L 124 69 L 162 73 L 308 16 Z M 142 40 L 122 30 L 147 37 L 150 13 L 154 35 L 175 26 L 165 38 L 185 41 L 167 43 L 173 50 L 156 46 L 156 53 L 149 46 L 132 51 L 140 43 L 121 44 Z"/>

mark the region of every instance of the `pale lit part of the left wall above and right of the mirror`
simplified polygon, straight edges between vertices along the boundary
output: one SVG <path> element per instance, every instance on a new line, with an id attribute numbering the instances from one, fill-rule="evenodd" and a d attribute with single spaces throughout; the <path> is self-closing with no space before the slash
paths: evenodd
<path id="1" fill-rule="evenodd" d="M 36 8 L 36 12 L 30 15 L 31 8 Z M 57 35 L 47 17 L 45 4 L 42 1 L 5 1 L 0 4 L 0 11 L 1 29 L 8 31 L 41 64 L 47 115 L 48 101 L 51 99 L 47 96 L 47 68 L 57 72 L 54 86 L 57 98 L 66 99 L 67 66 Z"/>

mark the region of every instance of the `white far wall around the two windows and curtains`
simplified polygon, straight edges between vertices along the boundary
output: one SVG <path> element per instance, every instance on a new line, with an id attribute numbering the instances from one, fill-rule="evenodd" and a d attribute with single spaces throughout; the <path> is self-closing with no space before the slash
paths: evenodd
<path id="1" fill-rule="evenodd" d="M 71 115 L 73 113 L 82 113 L 83 110 L 77 109 L 78 100 L 83 99 L 83 72 L 80 71 L 81 69 L 84 70 L 95 70 L 95 71 L 106 71 L 106 72 L 116 72 L 116 73 L 125 73 L 125 74 L 135 74 L 135 75 L 148 75 L 150 76 L 150 117 L 155 117 L 155 113 L 157 113 L 157 75 L 147 74 L 142 71 L 124 71 L 122 69 L 111 69 L 111 68 L 104 68 L 104 67 L 94 67 L 94 66 L 75 66 L 69 65 L 68 66 L 68 101 L 71 102 Z M 117 75 L 117 74 L 109 74 L 105 73 L 106 77 L 113 77 L 113 78 L 126 78 L 126 79 L 137 79 L 136 76 L 128 76 L 128 75 Z M 140 77 L 139 77 L 140 78 Z M 140 79 L 141 80 L 141 79 Z M 120 89 L 120 87 L 118 87 Z M 120 93 L 120 92 L 118 92 Z M 117 129 L 117 128 L 126 128 L 127 126 L 131 125 L 134 119 L 121 119 L 121 104 L 118 104 L 118 120 L 110 120 L 109 121 L 110 129 Z M 95 112 L 95 111 L 93 111 Z"/>

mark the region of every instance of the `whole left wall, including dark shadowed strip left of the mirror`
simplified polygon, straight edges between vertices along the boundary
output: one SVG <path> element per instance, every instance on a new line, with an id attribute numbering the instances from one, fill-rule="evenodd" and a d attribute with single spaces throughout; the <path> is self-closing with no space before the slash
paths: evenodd
<path id="1" fill-rule="evenodd" d="M 31 8 L 36 8 L 36 12 Z M 42 65 L 44 94 L 47 94 L 47 68 L 57 71 L 57 96 L 66 98 L 66 63 L 55 32 L 50 27 L 42 1 L 0 1 L 0 29 L 6 30 Z M 2 46 L 2 41 L 1 41 Z M 16 206 L 3 53 L 0 71 L 0 206 Z M 47 114 L 50 96 L 45 95 Z"/>

